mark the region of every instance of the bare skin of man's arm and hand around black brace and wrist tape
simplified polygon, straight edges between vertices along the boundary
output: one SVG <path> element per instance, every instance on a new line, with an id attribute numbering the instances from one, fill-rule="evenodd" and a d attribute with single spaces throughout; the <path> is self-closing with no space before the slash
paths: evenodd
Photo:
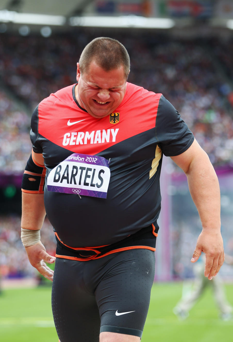
<path id="1" fill-rule="evenodd" d="M 43 155 L 32 152 L 35 161 L 43 165 Z M 29 178 L 34 181 L 33 176 Z M 22 221 L 21 227 L 29 229 L 30 231 L 38 231 L 41 229 L 44 218 L 44 195 L 22 192 Z M 33 267 L 35 267 L 45 278 L 53 280 L 53 271 L 46 265 L 47 263 L 54 263 L 55 257 L 46 253 L 45 247 L 41 241 L 34 245 L 25 247 L 28 259 Z"/>

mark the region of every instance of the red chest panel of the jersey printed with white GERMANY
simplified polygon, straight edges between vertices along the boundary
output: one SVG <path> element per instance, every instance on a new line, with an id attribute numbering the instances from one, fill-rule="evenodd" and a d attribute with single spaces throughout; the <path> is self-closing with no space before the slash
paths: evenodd
<path id="1" fill-rule="evenodd" d="M 39 134 L 58 146 L 94 155 L 155 127 L 161 94 L 127 83 L 125 97 L 114 113 L 96 119 L 77 105 L 72 88 L 51 94 L 39 105 Z"/>

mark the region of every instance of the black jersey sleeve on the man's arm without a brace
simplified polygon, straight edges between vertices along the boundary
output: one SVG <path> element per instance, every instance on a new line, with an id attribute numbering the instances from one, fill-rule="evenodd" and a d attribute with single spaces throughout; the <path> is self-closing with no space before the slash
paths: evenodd
<path id="1" fill-rule="evenodd" d="M 181 119 L 178 111 L 162 95 L 157 110 L 155 137 L 163 154 L 177 156 L 193 143 L 193 133 Z"/>

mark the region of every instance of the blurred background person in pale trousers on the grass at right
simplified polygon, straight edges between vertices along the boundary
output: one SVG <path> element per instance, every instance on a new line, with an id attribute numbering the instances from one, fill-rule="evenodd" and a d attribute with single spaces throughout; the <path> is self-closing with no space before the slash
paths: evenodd
<path id="1" fill-rule="evenodd" d="M 233 258 L 225 254 L 225 263 L 233 265 Z M 193 266 L 194 280 L 192 288 L 189 291 L 184 291 L 186 282 L 183 283 L 183 294 L 180 301 L 173 309 L 174 314 L 181 320 L 189 316 L 189 311 L 197 303 L 204 291 L 211 287 L 213 297 L 220 312 L 222 320 L 232 319 L 232 306 L 225 295 L 224 284 L 221 276 L 218 274 L 213 279 L 209 280 L 204 276 L 205 270 L 205 254 L 202 254 L 199 260 Z"/>

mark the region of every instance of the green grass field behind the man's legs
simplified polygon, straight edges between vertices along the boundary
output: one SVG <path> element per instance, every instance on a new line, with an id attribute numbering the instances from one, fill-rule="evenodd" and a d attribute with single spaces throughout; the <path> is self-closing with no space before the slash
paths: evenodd
<path id="1" fill-rule="evenodd" d="M 154 284 L 144 342 L 232 342 L 233 321 L 221 321 L 211 291 L 207 290 L 179 321 L 172 309 L 180 299 L 181 283 Z M 233 305 L 233 285 L 226 286 Z M 1 342 L 58 342 L 51 309 L 51 287 L 9 289 L 0 295 Z M 77 342 L 80 342 L 77 340 Z"/>

